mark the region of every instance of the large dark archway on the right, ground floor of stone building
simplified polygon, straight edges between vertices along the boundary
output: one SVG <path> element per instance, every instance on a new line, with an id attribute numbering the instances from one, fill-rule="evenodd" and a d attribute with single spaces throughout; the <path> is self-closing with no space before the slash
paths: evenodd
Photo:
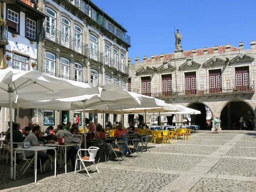
<path id="1" fill-rule="evenodd" d="M 239 129 L 239 120 L 242 115 L 244 115 L 244 120 L 246 122 L 248 122 L 250 117 L 254 116 L 250 105 L 243 101 L 229 102 L 221 111 L 221 129 Z M 233 126 L 235 123 L 236 125 Z"/>

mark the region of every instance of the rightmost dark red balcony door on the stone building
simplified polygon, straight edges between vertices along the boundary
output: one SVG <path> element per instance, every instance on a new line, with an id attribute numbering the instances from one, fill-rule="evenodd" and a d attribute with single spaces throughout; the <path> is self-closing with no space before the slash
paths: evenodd
<path id="1" fill-rule="evenodd" d="M 249 88 L 249 67 L 236 67 L 236 89 L 247 91 Z"/>

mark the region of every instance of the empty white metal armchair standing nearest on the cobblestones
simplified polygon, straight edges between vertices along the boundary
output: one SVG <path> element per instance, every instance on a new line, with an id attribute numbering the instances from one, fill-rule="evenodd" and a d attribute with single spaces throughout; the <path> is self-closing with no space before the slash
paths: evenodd
<path id="1" fill-rule="evenodd" d="M 86 167 L 84 165 L 84 161 L 86 161 L 86 162 L 93 162 L 95 168 L 97 169 L 97 172 L 99 173 L 99 170 L 98 170 L 96 164 L 94 163 L 95 157 L 96 157 L 96 154 L 97 154 L 98 150 L 99 150 L 99 147 L 90 147 L 89 149 L 79 149 L 78 152 L 77 152 L 79 158 L 76 159 L 76 165 L 77 165 L 77 161 L 80 160 L 81 163 L 84 166 L 84 169 L 86 170 L 87 174 L 89 175 L 89 177 L 90 177 L 90 174 L 89 174 L 89 172 L 87 171 L 87 169 L 86 169 Z M 81 155 L 80 151 L 88 151 L 90 156 L 89 157 L 81 157 L 80 156 Z M 76 175 L 76 166 L 75 166 L 75 175 Z"/>

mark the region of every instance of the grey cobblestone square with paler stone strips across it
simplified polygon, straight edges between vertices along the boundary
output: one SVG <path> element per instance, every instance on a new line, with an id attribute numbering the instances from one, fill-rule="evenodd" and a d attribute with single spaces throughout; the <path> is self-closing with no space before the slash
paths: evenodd
<path id="1" fill-rule="evenodd" d="M 255 132 L 200 132 L 192 140 L 175 140 L 175 144 L 148 145 L 151 152 L 125 157 L 119 163 L 112 157 L 108 163 L 95 166 L 87 163 L 91 175 L 83 170 L 74 172 L 68 163 L 67 175 L 57 168 L 57 177 L 49 161 L 45 173 L 32 169 L 19 172 L 24 165 L 17 163 L 16 181 L 10 180 L 10 160 L 6 165 L 1 154 L 0 189 L 14 192 L 253 192 L 256 191 Z M 6 157 L 5 157 L 6 158 Z M 60 162 L 59 162 L 60 163 Z M 62 160 L 63 164 L 63 160 Z M 80 167 L 80 165 L 79 165 Z"/>

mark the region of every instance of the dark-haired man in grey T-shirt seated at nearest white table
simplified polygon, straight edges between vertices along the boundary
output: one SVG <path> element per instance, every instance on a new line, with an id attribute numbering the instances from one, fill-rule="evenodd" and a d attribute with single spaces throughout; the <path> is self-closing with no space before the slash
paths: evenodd
<path id="1" fill-rule="evenodd" d="M 32 128 L 32 132 L 25 138 L 24 142 L 29 142 L 30 146 L 39 146 L 37 136 L 40 134 L 40 132 L 41 132 L 41 127 L 38 125 L 35 125 Z M 27 158 L 32 159 L 35 155 L 35 151 L 25 151 L 25 154 Z M 44 163 L 47 161 L 47 159 L 49 159 L 51 156 L 49 154 L 45 154 L 43 151 L 38 151 L 37 157 L 38 157 L 37 169 L 39 173 L 39 169 L 40 169 L 39 159 L 41 159 L 41 163 L 43 166 Z"/>

